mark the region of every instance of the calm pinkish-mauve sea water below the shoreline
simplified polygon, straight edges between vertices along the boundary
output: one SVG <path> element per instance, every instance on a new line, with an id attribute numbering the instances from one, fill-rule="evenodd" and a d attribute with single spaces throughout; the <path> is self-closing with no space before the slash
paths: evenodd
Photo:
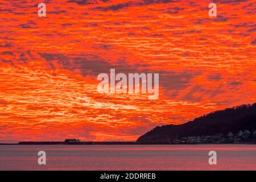
<path id="1" fill-rule="evenodd" d="M 256 145 L 2 145 L 0 170 L 256 170 Z"/>

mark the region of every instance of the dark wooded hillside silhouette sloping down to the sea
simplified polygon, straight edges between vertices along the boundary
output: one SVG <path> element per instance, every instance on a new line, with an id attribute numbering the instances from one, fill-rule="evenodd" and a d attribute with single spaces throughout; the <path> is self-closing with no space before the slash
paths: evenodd
<path id="1" fill-rule="evenodd" d="M 256 142 L 256 103 L 214 111 L 182 125 L 158 126 L 137 142 L 196 143 L 197 137 L 201 143 Z"/>

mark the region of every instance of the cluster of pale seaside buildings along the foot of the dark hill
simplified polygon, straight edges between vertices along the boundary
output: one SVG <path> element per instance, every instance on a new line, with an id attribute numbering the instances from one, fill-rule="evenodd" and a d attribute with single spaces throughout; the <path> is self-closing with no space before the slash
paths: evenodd
<path id="1" fill-rule="evenodd" d="M 237 133 L 229 132 L 226 135 L 218 133 L 212 136 L 193 136 L 175 139 L 172 143 L 242 143 L 256 142 L 256 130 L 243 130 Z"/>

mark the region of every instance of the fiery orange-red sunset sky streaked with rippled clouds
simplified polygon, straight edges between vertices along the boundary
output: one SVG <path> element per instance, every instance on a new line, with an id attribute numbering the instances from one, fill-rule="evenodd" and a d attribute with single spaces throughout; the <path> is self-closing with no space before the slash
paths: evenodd
<path id="1" fill-rule="evenodd" d="M 0 0 L 0 143 L 136 140 L 256 100 L 256 2 Z M 159 99 L 97 75 L 159 73 Z"/>

